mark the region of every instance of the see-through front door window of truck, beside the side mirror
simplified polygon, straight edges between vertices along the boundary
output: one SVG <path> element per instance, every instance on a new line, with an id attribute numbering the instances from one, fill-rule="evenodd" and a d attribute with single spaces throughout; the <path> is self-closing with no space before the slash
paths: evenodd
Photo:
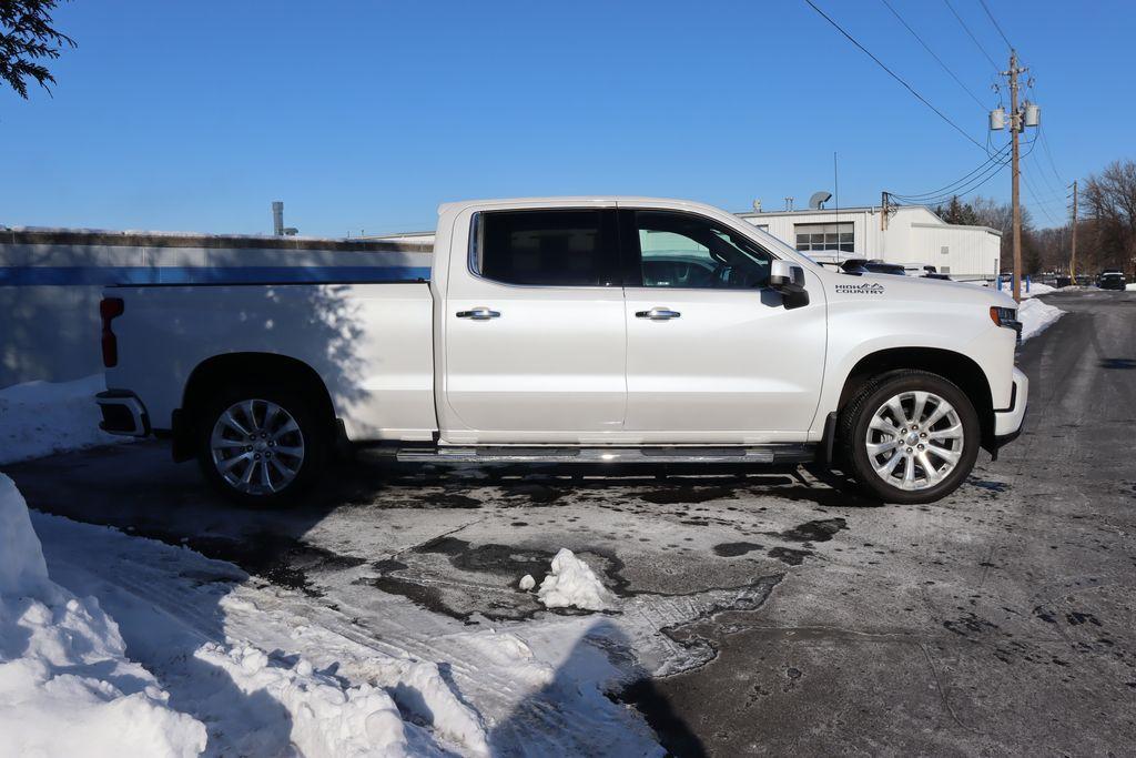
<path id="1" fill-rule="evenodd" d="M 643 286 L 744 290 L 769 283 L 772 256 L 709 218 L 635 211 Z"/>

